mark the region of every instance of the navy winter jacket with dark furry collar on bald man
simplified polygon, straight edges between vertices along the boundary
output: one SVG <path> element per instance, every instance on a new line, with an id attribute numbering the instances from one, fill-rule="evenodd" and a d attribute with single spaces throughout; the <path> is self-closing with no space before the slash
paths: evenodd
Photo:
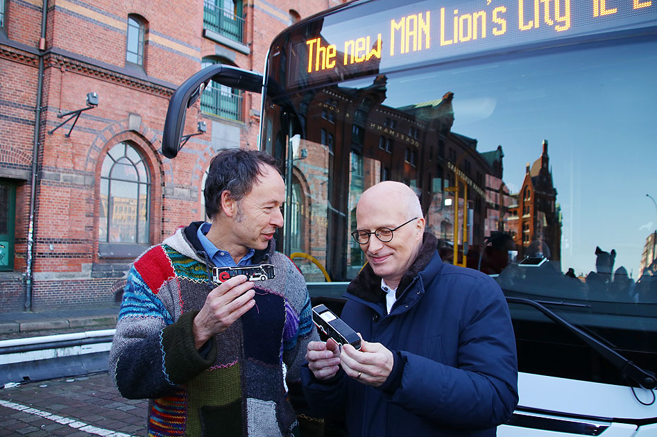
<path id="1" fill-rule="evenodd" d="M 345 294 L 343 320 L 395 356 L 382 386 L 361 384 L 343 370 L 319 382 L 307 363 L 302 367 L 309 404 L 343 418 L 350 436 L 495 436 L 518 404 L 515 336 L 500 286 L 443 264 L 436 246 L 425 234 L 390 314 L 369 266 Z"/>

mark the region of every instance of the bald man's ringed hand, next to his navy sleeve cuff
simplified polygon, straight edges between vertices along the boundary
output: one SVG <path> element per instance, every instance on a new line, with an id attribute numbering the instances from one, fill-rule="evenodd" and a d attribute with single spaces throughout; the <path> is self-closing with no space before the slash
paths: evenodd
<path id="1" fill-rule="evenodd" d="M 360 334 L 359 334 L 360 335 Z M 368 343 L 361 339 L 361 350 L 344 345 L 340 354 L 342 369 L 357 381 L 378 387 L 388 379 L 393 370 L 393 353 L 381 343 Z"/>

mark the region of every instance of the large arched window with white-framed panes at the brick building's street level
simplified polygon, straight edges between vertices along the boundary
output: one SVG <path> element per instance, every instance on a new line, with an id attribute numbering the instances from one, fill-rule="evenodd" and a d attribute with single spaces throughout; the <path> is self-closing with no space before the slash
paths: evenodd
<path id="1" fill-rule="evenodd" d="M 110 148 L 101 170 L 100 243 L 148 244 L 151 178 L 127 142 Z"/>

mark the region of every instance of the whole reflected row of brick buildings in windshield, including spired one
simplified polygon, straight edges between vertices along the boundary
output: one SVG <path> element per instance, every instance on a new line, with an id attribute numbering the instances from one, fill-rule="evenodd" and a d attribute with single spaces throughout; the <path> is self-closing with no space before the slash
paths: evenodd
<path id="1" fill-rule="evenodd" d="M 295 162 L 293 178 L 300 183 L 300 194 L 314 199 L 309 214 L 300 218 L 299 229 L 291 230 L 307 240 L 300 246 L 325 262 L 335 277 L 353 277 L 364 258 L 357 243 L 343 235 L 355 230 L 357 200 L 379 181 L 398 180 L 420 197 L 427 230 L 440 240 L 445 261 L 478 268 L 479 253 L 495 232 L 511 234 L 518 256 L 528 255 L 536 237 L 543 246 L 535 252 L 558 260 L 561 221 L 547 142 L 522 185 L 531 194 L 516 200 L 503 180 L 502 146 L 482 153 L 477 151 L 477 139 L 452 132 L 454 93 L 392 108 L 383 104 L 387 86 L 386 76 L 379 75 L 364 87 L 333 85 L 291 96 L 305 128 L 300 148 L 308 152 L 307 159 Z M 273 149 L 280 149 L 275 153 L 279 157 L 284 155 L 282 146 Z M 327 173 L 315 174 L 317 169 Z M 318 203 L 320 199 L 325 201 Z M 518 202 L 524 209 L 521 216 L 513 206 Z M 319 223 L 318 232 L 332 243 L 328 250 L 314 253 L 319 246 L 312 241 L 312 230 Z M 495 243 L 499 246 L 500 241 Z"/>

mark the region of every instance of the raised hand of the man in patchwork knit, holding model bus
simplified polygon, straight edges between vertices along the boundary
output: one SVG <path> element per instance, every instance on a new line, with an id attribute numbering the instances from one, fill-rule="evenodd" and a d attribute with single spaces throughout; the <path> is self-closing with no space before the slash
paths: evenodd
<path id="1" fill-rule="evenodd" d="M 203 308 L 194 317 L 194 345 L 200 349 L 212 336 L 224 332 L 235 320 L 253 308 L 253 282 L 237 275 L 210 291 Z"/>

